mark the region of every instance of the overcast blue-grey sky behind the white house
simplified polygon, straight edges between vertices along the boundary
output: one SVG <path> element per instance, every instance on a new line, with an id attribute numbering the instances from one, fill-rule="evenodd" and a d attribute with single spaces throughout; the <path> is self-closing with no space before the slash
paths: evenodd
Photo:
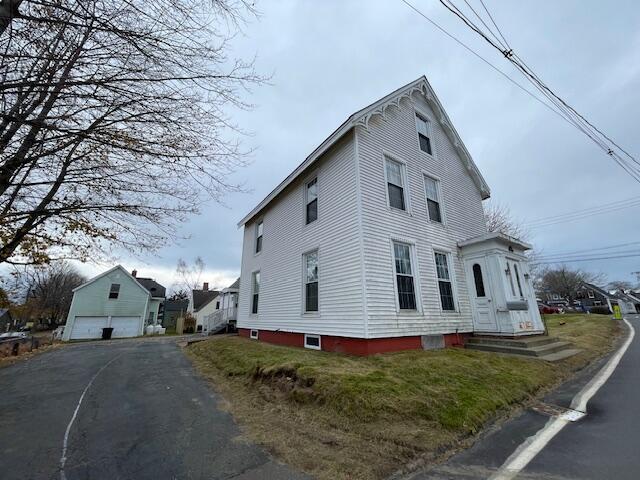
<path id="1" fill-rule="evenodd" d="M 437 0 L 416 6 L 523 82 L 497 52 Z M 457 2 L 460 5 L 463 2 Z M 470 0 L 480 6 L 478 0 Z M 555 91 L 628 151 L 640 155 L 640 4 L 636 1 L 485 0 L 514 50 Z M 184 226 L 190 239 L 158 256 L 120 258 L 171 286 L 178 258 L 200 255 L 212 285 L 240 270 L 237 222 L 351 113 L 426 75 L 492 190 L 521 221 L 640 197 L 640 185 L 577 130 L 518 90 L 399 0 L 262 1 L 262 14 L 234 41 L 273 74 L 234 118 L 254 135 L 252 164 L 237 172 L 250 193 L 210 204 Z M 640 240 L 640 207 L 539 228 L 544 254 Z M 627 248 L 628 250 L 629 248 Z M 640 247 L 636 249 L 640 251 Z M 608 251 L 605 251 L 605 253 Z M 640 257 L 575 263 L 633 280 Z M 103 266 L 83 265 L 93 274 Z"/>

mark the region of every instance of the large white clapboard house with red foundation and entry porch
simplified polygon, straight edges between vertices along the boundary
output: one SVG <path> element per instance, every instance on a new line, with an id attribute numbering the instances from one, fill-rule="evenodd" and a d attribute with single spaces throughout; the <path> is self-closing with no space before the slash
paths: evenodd
<path id="1" fill-rule="evenodd" d="M 544 332 L 524 251 L 425 77 L 351 115 L 240 222 L 241 335 L 369 354 Z"/>

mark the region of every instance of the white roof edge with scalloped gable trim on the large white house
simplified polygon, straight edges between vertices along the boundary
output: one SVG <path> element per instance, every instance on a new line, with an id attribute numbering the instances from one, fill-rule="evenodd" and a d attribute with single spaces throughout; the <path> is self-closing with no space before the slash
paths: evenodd
<path id="1" fill-rule="evenodd" d="M 480 170 L 471 158 L 471 154 L 465 147 L 460 135 L 456 131 L 453 123 L 449 119 L 447 112 L 445 112 L 440 100 L 436 97 L 433 88 L 429 84 L 427 77 L 424 75 L 414 80 L 407 85 L 400 87 L 399 89 L 391 92 L 389 95 L 382 97 L 375 101 L 371 105 L 358 110 L 347 118 L 342 125 L 340 125 L 331 135 L 329 135 L 324 142 L 322 142 L 311 154 L 300 164 L 298 167 L 287 176 L 280 184 L 274 188 L 269 195 L 267 195 L 253 210 L 251 210 L 242 220 L 238 222 L 238 227 L 245 225 L 253 217 L 255 217 L 261 210 L 263 210 L 273 199 L 275 199 L 285 188 L 293 183 L 307 168 L 316 162 L 332 145 L 334 145 L 340 138 L 342 138 L 347 132 L 357 125 L 368 127 L 369 120 L 373 115 L 383 115 L 388 107 L 400 105 L 400 100 L 403 98 L 411 98 L 414 92 L 423 94 L 427 100 L 427 103 L 433 108 L 436 113 L 437 120 L 440 122 L 447 136 L 451 140 L 457 153 L 465 163 L 467 170 L 471 174 L 471 178 L 480 190 L 482 199 L 485 200 L 490 196 L 490 189 L 487 182 L 482 177 Z"/>

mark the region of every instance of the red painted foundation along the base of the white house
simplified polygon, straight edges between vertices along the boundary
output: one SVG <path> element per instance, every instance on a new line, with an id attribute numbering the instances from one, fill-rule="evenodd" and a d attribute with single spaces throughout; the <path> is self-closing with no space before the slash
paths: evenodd
<path id="1" fill-rule="evenodd" d="M 249 338 L 251 329 L 239 328 L 241 337 Z M 463 346 L 468 338 L 468 333 L 444 334 L 446 347 Z M 288 345 L 292 347 L 304 347 L 304 333 L 258 330 L 258 340 L 276 345 Z M 354 338 L 336 337 L 333 335 L 321 335 L 321 346 L 325 352 L 346 353 L 350 355 L 375 355 L 376 353 L 399 352 L 402 350 L 420 350 L 422 341 L 420 335 L 408 337 L 387 338 Z"/>

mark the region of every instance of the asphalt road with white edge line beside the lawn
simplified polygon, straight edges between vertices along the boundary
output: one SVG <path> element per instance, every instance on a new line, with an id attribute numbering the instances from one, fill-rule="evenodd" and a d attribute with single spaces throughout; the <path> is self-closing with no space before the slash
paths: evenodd
<path id="1" fill-rule="evenodd" d="M 587 416 L 562 429 L 516 479 L 640 478 L 640 315 L 632 315 L 628 320 L 635 328 L 636 336 L 609 380 L 589 401 Z M 569 407 L 574 395 L 605 360 L 582 372 L 544 401 Z M 408 478 L 490 478 L 518 446 L 545 426 L 549 418 L 527 410 L 488 432 L 446 464 Z"/>

